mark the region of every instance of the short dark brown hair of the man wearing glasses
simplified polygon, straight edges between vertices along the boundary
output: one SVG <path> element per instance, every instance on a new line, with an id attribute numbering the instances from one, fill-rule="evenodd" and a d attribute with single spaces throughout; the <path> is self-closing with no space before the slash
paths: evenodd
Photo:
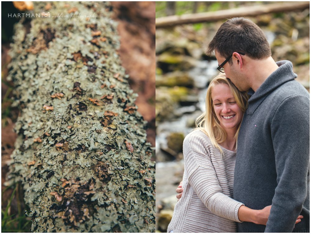
<path id="1" fill-rule="evenodd" d="M 271 56 L 271 48 L 263 31 L 252 21 L 232 18 L 223 23 L 207 47 L 206 54 L 214 50 L 221 57 L 227 58 L 233 52 L 244 52 L 252 59 Z M 229 61 L 232 63 L 232 60 Z"/>

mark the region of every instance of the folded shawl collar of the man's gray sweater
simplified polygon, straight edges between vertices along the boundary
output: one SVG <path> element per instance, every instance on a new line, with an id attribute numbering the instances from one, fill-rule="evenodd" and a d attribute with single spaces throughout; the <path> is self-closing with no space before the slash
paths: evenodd
<path id="1" fill-rule="evenodd" d="M 293 64 L 290 61 L 282 60 L 276 62 L 279 66 L 254 92 L 252 89 L 248 91 L 248 94 L 251 96 L 248 102 L 255 101 L 268 93 L 275 90 L 277 87 L 281 86 L 285 82 L 294 80 L 297 77 L 297 74 L 293 72 Z"/>

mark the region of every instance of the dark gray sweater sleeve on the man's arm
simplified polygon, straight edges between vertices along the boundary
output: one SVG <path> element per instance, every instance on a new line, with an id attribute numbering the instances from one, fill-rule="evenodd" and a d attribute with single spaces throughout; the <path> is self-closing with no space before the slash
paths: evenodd
<path id="1" fill-rule="evenodd" d="M 307 96 L 289 97 L 273 116 L 277 187 L 265 232 L 292 232 L 306 199 L 310 170 L 309 103 Z"/>

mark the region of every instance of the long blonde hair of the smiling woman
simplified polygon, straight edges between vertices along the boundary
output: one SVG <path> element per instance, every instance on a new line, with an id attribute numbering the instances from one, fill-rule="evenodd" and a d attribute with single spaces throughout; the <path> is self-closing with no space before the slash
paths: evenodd
<path id="1" fill-rule="evenodd" d="M 227 133 L 223 127 L 220 126 L 219 120 L 215 114 L 213 100 L 211 97 L 212 88 L 218 84 L 227 84 L 230 88 L 230 92 L 234 97 L 236 103 L 239 108 L 243 111 L 243 113 L 247 109 L 248 105 L 248 95 L 246 92 L 240 92 L 234 84 L 228 80 L 225 76 L 225 73 L 219 73 L 216 77 L 214 77 L 207 88 L 207 94 L 205 98 L 205 108 L 206 111 L 200 115 L 196 121 L 195 126 L 196 129 L 200 129 L 211 139 L 211 143 L 214 147 L 218 148 L 223 155 L 223 151 L 219 145 L 225 141 L 227 137 Z M 234 139 L 236 140 L 235 147 L 237 146 L 238 134 L 240 130 L 241 123 L 239 124 L 238 130 L 235 133 Z"/>

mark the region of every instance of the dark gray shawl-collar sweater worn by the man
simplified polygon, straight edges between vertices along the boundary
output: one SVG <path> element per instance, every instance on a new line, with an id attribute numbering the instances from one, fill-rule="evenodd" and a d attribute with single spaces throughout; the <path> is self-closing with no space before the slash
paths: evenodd
<path id="1" fill-rule="evenodd" d="M 253 209 L 272 204 L 267 227 L 238 232 L 309 232 L 310 95 L 289 61 L 251 95 L 238 138 L 234 199 Z M 297 216 L 304 218 L 295 225 Z M 295 225 L 295 228 L 294 228 Z"/>

